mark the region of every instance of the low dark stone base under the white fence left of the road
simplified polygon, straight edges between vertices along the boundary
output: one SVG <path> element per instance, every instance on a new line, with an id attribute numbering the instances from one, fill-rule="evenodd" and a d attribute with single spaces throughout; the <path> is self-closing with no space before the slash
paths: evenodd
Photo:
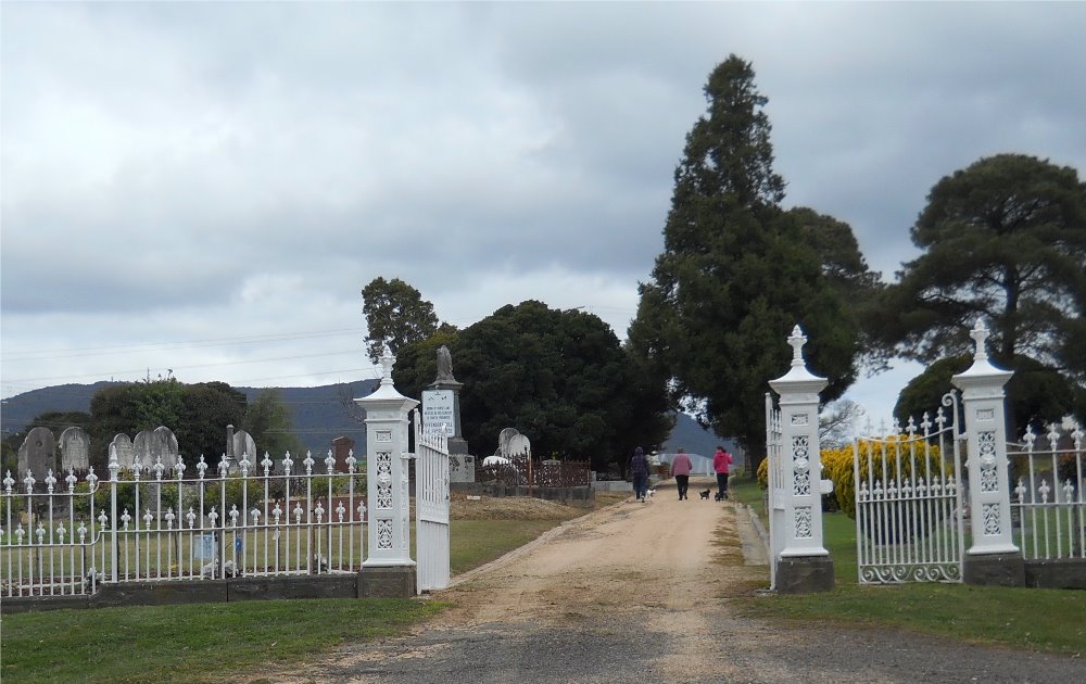
<path id="1" fill-rule="evenodd" d="M 365 568 L 361 572 L 304 577 L 237 578 L 102 584 L 89 596 L 5 596 L 3 611 L 60 608 L 168 606 L 287 598 L 408 598 L 415 595 L 415 568 Z"/>

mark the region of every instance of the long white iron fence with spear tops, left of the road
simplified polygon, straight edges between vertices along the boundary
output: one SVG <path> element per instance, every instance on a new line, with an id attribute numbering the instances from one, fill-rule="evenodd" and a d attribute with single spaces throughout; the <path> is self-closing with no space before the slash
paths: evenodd
<path id="1" fill-rule="evenodd" d="M 156 463 L 62 483 L 9 471 L 0 493 L 0 595 L 93 594 L 102 583 L 357 572 L 366 549 L 365 473 L 351 454 L 324 472 L 306 455 L 243 456 L 231 473 Z M 278 468 L 277 468 L 278 466 Z M 207 470 L 212 470 L 211 473 Z M 217 470 L 217 474 L 216 474 Z M 60 485 L 60 486 L 58 486 Z"/>

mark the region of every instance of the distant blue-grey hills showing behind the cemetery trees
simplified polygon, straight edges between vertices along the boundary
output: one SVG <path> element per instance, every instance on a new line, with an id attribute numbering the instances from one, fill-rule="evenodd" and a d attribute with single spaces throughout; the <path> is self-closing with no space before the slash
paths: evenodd
<path id="1" fill-rule="evenodd" d="M 349 436 L 363 444 L 366 436 L 365 425 L 351 410 L 351 400 L 366 396 L 377 387 L 377 380 L 359 380 L 341 384 L 325 384 L 315 388 L 279 388 L 283 404 L 290 409 L 294 432 L 302 444 L 314 454 L 323 454 L 331 448 L 338 436 Z M 2 420 L 4 434 L 22 430 L 36 416 L 47 411 L 89 411 L 94 393 L 111 382 L 93 384 L 60 384 L 16 394 L 3 401 Z M 263 388 L 236 388 L 244 392 L 249 401 L 256 397 Z M 724 444 L 742 463 L 742 451 L 731 440 L 717 436 L 702 428 L 686 414 L 679 414 L 671 435 L 664 443 L 662 452 L 671 453 L 682 446 L 691 454 L 712 456 L 717 444 Z"/>

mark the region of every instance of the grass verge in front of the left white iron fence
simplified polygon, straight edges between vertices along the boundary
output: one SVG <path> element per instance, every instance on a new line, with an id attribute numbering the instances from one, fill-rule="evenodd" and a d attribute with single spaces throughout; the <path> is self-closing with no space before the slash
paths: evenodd
<path id="1" fill-rule="evenodd" d="M 440 610 L 411 599 L 262 600 L 56 610 L 3 619 L 8 682 L 207 682 L 405 633 Z M 123 654 L 123 656 L 122 656 Z"/>

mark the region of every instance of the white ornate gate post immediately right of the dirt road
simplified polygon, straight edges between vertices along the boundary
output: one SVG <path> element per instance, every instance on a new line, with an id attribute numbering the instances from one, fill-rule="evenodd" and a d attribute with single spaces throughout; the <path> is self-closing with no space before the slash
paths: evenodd
<path id="1" fill-rule="evenodd" d="M 781 549 L 772 562 L 776 588 L 784 593 L 833 588 L 833 560 L 822 545 L 822 457 L 818 432 L 818 395 L 828 383 L 825 378 L 807 370 L 803 356 L 806 342 L 799 326 L 793 328 L 788 337 L 792 369 L 769 383 L 781 397 L 779 457 L 786 459 L 781 468 L 783 501 L 778 502 L 781 523 L 773 525 L 775 530 L 771 528 L 771 534 L 783 535 L 772 543 L 774 549 Z M 770 464 L 770 468 L 773 466 Z"/>

